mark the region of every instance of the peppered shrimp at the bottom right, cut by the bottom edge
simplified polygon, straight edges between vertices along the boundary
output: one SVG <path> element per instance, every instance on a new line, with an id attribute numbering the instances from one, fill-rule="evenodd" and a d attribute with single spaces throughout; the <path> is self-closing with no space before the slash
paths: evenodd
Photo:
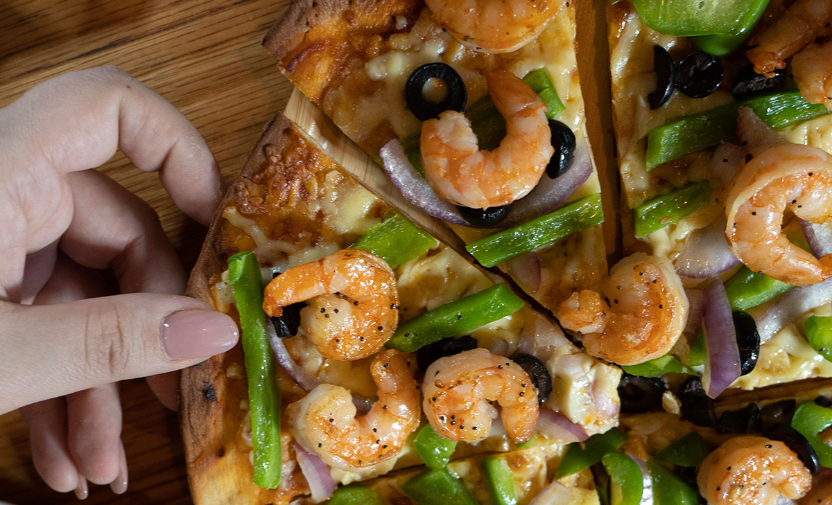
<path id="1" fill-rule="evenodd" d="M 811 482 L 809 470 L 785 444 L 751 436 L 730 439 L 708 454 L 696 476 L 711 505 L 775 505 L 780 497 L 802 497 Z"/>

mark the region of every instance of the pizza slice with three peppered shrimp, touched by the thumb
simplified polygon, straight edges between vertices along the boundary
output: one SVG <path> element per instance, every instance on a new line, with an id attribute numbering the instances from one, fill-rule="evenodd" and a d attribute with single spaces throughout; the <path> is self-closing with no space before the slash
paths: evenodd
<path id="1" fill-rule="evenodd" d="M 188 292 L 243 329 L 241 346 L 182 374 L 200 505 L 320 499 L 426 460 L 617 424 L 621 370 L 396 213 L 283 115 L 221 203 Z"/>

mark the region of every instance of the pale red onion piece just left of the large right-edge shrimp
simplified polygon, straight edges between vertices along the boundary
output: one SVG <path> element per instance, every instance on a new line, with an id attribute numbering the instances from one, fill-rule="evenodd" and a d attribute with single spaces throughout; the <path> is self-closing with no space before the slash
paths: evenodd
<path id="1" fill-rule="evenodd" d="M 726 223 L 726 217 L 720 215 L 705 228 L 691 233 L 676 258 L 676 273 L 681 277 L 707 279 L 739 264 L 740 260 L 728 248 Z"/>

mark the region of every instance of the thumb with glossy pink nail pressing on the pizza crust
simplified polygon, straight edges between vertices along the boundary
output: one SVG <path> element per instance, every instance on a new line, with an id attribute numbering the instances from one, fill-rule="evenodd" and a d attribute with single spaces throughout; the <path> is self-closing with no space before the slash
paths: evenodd
<path id="1" fill-rule="evenodd" d="M 193 298 L 133 293 L 45 306 L 0 302 L 0 414 L 228 351 L 230 318 Z"/>

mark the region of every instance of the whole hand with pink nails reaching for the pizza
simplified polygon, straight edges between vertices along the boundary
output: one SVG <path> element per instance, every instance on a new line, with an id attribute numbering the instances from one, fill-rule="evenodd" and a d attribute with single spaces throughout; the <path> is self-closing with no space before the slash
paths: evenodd
<path id="1" fill-rule="evenodd" d="M 126 489 L 114 383 L 238 338 L 229 316 L 176 296 L 186 274 L 156 213 L 94 169 L 116 150 L 209 223 L 222 183 L 205 141 L 125 72 L 58 76 L 0 110 L 0 414 L 21 409 L 38 473 L 79 498 L 87 480 Z M 176 407 L 165 377 L 149 382 Z"/>

